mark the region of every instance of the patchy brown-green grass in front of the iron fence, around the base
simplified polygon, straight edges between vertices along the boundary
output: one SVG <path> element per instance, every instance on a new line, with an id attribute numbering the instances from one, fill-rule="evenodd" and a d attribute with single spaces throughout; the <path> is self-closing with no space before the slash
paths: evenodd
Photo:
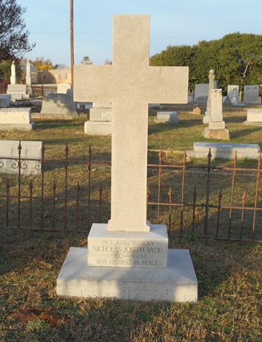
<path id="1" fill-rule="evenodd" d="M 196 304 L 61 298 L 55 279 L 86 235 L 0 231 L 1 341 L 261 341 L 262 246 L 171 237 L 188 248 Z"/>

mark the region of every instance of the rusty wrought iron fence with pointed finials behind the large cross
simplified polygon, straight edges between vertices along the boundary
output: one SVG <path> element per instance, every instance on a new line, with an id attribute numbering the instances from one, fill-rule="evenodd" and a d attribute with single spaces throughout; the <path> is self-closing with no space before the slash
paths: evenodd
<path id="1" fill-rule="evenodd" d="M 109 220 L 110 161 L 94 159 L 91 146 L 70 158 L 67 144 L 62 158 L 47 158 L 42 144 L 41 157 L 30 159 L 21 145 L 17 157 L 0 156 L 1 228 L 88 233 L 93 222 Z M 261 155 L 248 167 L 237 153 L 232 165 L 211 161 L 210 151 L 205 163 L 186 153 L 174 163 L 160 151 L 148 163 L 148 220 L 180 237 L 262 242 Z"/>

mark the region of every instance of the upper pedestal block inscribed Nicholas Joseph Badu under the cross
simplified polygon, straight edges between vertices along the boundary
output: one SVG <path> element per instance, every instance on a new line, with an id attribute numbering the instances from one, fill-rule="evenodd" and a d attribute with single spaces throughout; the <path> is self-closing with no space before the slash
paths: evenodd
<path id="1" fill-rule="evenodd" d="M 140 233 L 137 238 L 132 238 L 129 232 L 125 233 L 126 236 L 124 237 L 117 237 L 113 232 L 99 237 L 101 226 L 104 225 L 96 224 L 96 228 L 92 231 L 93 234 L 91 233 L 91 236 L 88 237 L 89 266 L 168 267 L 166 226 L 153 225 L 153 231 L 154 226 L 157 227 L 155 228 L 155 234 L 152 231 L 150 233 Z M 149 239 L 146 237 L 147 234 L 150 234 Z"/>

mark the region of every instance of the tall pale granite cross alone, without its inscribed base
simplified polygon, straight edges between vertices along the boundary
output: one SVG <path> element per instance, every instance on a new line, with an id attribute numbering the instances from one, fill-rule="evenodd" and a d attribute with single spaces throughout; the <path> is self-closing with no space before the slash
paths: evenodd
<path id="1" fill-rule="evenodd" d="M 146 222 L 148 103 L 187 103 L 188 67 L 149 66 L 149 15 L 114 15 L 113 64 L 76 65 L 74 101 L 112 102 L 112 204 L 108 231 Z"/>

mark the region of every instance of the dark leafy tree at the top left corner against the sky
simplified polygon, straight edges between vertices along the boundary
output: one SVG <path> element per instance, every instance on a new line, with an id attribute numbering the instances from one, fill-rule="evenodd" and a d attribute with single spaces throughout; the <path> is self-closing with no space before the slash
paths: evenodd
<path id="1" fill-rule="evenodd" d="M 25 11 L 16 0 L 0 0 L 0 62 L 18 60 L 36 45 L 28 41 L 29 31 L 23 20 Z"/>

